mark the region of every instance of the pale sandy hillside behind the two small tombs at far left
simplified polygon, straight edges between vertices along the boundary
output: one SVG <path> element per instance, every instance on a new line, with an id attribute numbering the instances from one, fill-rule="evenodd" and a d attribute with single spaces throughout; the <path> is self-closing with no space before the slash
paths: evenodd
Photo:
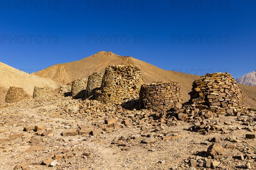
<path id="1" fill-rule="evenodd" d="M 0 103 L 5 101 L 5 96 L 10 86 L 23 88 L 29 96 L 32 96 L 35 86 L 48 86 L 55 89 L 60 84 L 52 79 L 27 74 L 3 62 L 0 62 L 0 70 Z"/>

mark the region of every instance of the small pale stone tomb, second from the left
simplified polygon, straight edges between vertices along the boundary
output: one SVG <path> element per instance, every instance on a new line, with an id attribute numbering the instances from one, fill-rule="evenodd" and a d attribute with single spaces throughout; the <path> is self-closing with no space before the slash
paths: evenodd
<path id="1" fill-rule="evenodd" d="M 52 96 L 54 96 L 52 88 L 35 86 L 34 91 L 33 91 L 34 99 L 49 99 Z"/>

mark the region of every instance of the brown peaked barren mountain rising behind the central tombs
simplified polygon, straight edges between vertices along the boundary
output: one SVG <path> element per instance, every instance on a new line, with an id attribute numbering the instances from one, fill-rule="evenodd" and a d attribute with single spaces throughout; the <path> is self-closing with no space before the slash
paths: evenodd
<path id="1" fill-rule="evenodd" d="M 57 82 L 67 84 L 69 82 L 72 82 L 74 79 L 88 78 L 88 76 L 93 72 L 101 72 L 103 74 L 105 68 L 111 64 L 139 65 L 146 83 L 150 83 L 153 81 L 179 82 L 183 90 L 183 99 L 185 102 L 189 100 L 188 93 L 191 91 L 192 82 L 195 79 L 199 78 L 199 76 L 192 74 L 166 71 L 130 56 L 124 57 L 113 54 L 111 51 L 100 51 L 90 57 L 86 57 L 79 61 L 52 65 L 44 70 L 32 74 L 38 75 L 39 77 L 50 78 Z M 250 89 L 249 91 L 247 90 L 248 88 Z M 241 90 L 245 97 L 245 104 L 250 106 L 256 106 L 256 88 L 242 85 Z"/>

